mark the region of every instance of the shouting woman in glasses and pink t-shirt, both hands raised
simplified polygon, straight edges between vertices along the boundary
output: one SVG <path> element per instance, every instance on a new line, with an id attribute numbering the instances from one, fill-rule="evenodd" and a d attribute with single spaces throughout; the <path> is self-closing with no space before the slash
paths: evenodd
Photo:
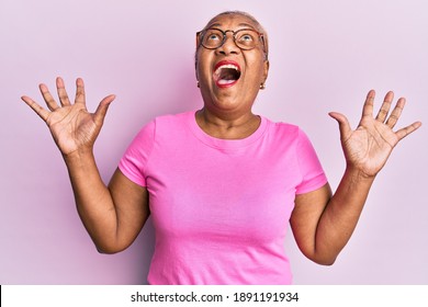
<path id="1" fill-rule="evenodd" d="M 405 100 L 387 115 L 388 92 L 373 118 L 370 91 L 356 130 L 330 113 L 347 161 L 333 194 L 305 134 L 251 111 L 269 70 L 267 34 L 256 19 L 244 12 L 213 18 L 198 33 L 195 68 L 203 107 L 143 127 L 108 186 L 92 148 L 114 95 L 89 113 L 83 81 L 77 79 L 71 103 L 58 78 L 59 104 L 44 84 L 48 110 L 22 98 L 48 125 L 99 251 L 126 249 L 151 215 L 150 284 L 290 284 L 283 248 L 290 220 L 302 252 L 333 264 L 392 149 L 421 125 L 393 132 Z"/>

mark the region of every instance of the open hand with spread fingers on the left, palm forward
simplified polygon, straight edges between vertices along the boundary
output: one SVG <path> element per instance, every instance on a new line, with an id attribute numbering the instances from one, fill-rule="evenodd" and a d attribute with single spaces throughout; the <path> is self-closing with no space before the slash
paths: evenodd
<path id="1" fill-rule="evenodd" d="M 97 111 L 89 113 L 86 106 L 83 80 L 78 78 L 76 86 L 74 104 L 68 99 L 61 78 L 56 79 L 60 105 L 55 101 L 45 84 L 40 84 L 40 90 L 48 110 L 29 96 L 24 95 L 21 98 L 47 124 L 56 145 L 65 158 L 74 154 L 79 155 L 87 150 L 92 150 L 109 105 L 115 98 L 114 95 L 104 98 Z"/>

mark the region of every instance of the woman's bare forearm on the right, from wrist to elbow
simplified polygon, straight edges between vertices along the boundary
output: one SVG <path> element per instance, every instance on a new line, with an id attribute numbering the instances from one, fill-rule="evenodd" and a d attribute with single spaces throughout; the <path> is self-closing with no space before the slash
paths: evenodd
<path id="1" fill-rule="evenodd" d="M 347 168 L 316 229 L 315 253 L 319 262 L 333 263 L 350 239 L 360 218 L 374 177 Z"/>

